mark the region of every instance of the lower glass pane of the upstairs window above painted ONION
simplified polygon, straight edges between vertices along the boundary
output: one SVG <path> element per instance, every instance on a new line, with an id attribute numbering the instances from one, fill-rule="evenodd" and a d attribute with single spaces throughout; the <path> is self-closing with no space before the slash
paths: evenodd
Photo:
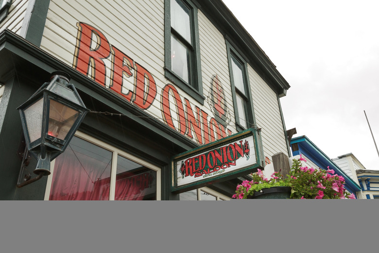
<path id="1" fill-rule="evenodd" d="M 189 83 L 189 49 L 171 36 L 171 69 Z"/>

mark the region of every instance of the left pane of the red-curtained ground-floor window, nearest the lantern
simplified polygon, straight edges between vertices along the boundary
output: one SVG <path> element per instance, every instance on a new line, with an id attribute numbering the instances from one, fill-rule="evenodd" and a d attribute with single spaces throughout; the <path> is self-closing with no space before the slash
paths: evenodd
<path id="1" fill-rule="evenodd" d="M 50 199 L 107 200 L 112 152 L 73 137 L 55 159 Z"/>

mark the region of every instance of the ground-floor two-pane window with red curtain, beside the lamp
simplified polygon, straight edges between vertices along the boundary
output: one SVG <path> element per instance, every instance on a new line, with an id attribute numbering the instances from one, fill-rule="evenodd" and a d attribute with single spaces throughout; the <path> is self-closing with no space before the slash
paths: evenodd
<path id="1" fill-rule="evenodd" d="M 50 200 L 108 200 L 112 163 L 117 164 L 115 200 L 156 199 L 156 171 L 74 137 L 55 159 Z"/>

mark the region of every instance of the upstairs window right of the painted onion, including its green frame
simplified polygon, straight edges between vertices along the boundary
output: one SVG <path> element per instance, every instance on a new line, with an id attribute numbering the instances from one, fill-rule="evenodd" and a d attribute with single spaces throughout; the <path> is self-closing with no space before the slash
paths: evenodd
<path id="1" fill-rule="evenodd" d="M 228 41 L 226 41 L 226 45 L 236 127 L 238 130 L 244 130 L 255 124 L 253 100 L 251 98 L 247 74 L 247 62 Z"/>

